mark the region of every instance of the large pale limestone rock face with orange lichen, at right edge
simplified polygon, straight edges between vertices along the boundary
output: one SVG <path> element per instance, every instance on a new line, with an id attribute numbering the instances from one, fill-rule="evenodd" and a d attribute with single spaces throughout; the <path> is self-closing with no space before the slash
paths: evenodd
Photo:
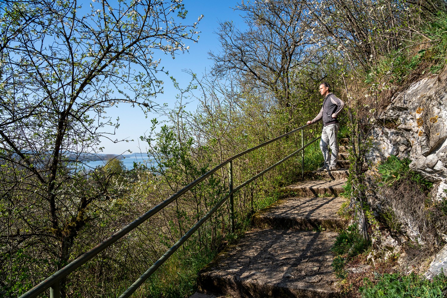
<path id="1" fill-rule="evenodd" d="M 393 98 L 372 132 L 373 162 L 389 155 L 412 160 L 410 168 L 433 182 L 447 180 L 447 88 L 438 77 L 412 84 Z M 443 184 L 441 183 L 441 184 Z M 443 193 L 443 190 L 440 191 Z"/>

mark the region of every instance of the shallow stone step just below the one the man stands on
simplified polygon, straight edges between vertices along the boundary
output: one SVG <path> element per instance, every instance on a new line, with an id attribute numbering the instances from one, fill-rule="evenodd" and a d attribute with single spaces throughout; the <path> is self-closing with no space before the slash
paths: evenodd
<path id="1" fill-rule="evenodd" d="M 344 184 L 344 180 L 307 180 L 286 186 L 283 190 L 294 193 L 294 197 L 337 197 L 344 192 Z"/>

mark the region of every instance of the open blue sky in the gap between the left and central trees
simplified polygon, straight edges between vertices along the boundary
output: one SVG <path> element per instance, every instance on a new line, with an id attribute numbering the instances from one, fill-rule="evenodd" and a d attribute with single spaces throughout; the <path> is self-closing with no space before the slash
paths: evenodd
<path id="1" fill-rule="evenodd" d="M 204 16 L 198 26 L 198 29 L 201 31 L 199 42 L 189 44 L 189 53 L 179 54 L 175 59 L 172 59 L 170 55 L 160 53 L 157 55 L 157 57 L 161 58 L 161 66 L 164 66 L 169 71 L 169 76 L 176 78 L 177 82 L 180 83 L 180 87 L 186 87 L 190 81 L 190 77 L 182 70 L 192 70 L 198 77 L 201 77 L 205 70 L 210 69 L 212 61 L 209 59 L 208 52 L 218 52 L 220 50 L 217 34 L 215 34 L 215 31 L 219 28 L 219 21 L 233 21 L 236 26 L 238 24 L 244 26 L 239 12 L 232 9 L 237 3 L 236 0 L 183 0 L 185 8 L 188 10 L 187 20 L 182 21 L 184 24 L 192 24 L 197 21 L 201 14 Z M 158 95 L 154 101 L 160 105 L 167 103 L 169 107 L 173 107 L 176 101 L 175 96 L 178 92 L 174 90 L 169 77 L 162 76 L 160 79 L 164 80 L 164 94 Z M 192 102 L 190 109 L 194 109 L 194 105 L 195 103 Z M 148 132 L 152 118 L 159 118 L 156 114 L 149 114 L 148 118 L 145 118 L 139 108 L 121 104 L 118 107 L 108 109 L 107 115 L 112 117 L 112 119 L 120 118 L 120 126 L 116 134 L 111 138 L 133 139 L 134 141 L 113 143 L 103 139 L 100 145 L 104 147 L 103 153 L 122 154 L 129 149 L 133 152 L 146 151 L 146 144 L 139 143 L 139 136 Z"/>

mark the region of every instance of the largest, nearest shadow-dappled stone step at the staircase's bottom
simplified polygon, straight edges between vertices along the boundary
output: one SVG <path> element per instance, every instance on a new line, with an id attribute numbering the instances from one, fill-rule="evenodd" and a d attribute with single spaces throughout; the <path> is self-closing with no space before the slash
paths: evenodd
<path id="1" fill-rule="evenodd" d="M 330 248 L 336 235 L 295 230 L 247 232 L 198 273 L 198 292 L 234 298 L 341 297 L 331 267 Z"/>

